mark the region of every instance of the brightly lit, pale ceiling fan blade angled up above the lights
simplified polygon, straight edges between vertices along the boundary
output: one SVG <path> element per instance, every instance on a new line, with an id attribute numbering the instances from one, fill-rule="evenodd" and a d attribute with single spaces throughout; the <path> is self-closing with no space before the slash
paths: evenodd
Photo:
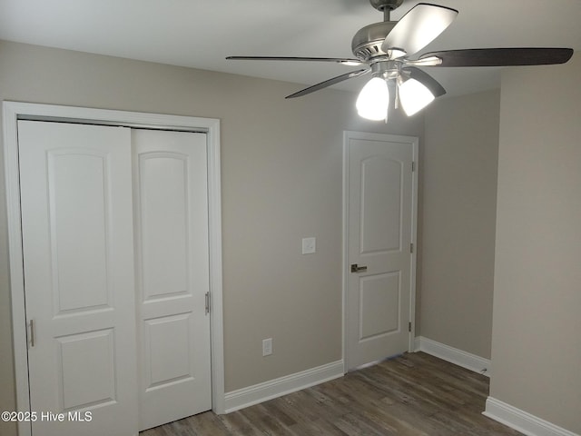
<path id="1" fill-rule="evenodd" d="M 444 32 L 457 16 L 456 9 L 419 3 L 389 32 L 381 50 L 386 53 L 390 50 L 405 52 L 398 57 L 417 53 Z"/>

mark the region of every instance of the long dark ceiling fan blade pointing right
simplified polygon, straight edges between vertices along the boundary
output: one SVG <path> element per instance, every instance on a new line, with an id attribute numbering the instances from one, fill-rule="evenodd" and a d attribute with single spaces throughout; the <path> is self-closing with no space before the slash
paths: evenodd
<path id="1" fill-rule="evenodd" d="M 419 61 L 428 58 L 441 60 L 429 66 L 548 65 L 565 64 L 572 55 L 572 48 L 471 48 L 422 54 Z"/>

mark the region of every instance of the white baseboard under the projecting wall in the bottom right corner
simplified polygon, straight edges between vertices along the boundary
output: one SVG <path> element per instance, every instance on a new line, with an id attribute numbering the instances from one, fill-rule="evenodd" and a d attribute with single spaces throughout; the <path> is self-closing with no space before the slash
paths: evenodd
<path id="1" fill-rule="evenodd" d="M 528 436 L 579 436 L 492 397 L 487 398 L 486 411 L 482 414 Z"/>

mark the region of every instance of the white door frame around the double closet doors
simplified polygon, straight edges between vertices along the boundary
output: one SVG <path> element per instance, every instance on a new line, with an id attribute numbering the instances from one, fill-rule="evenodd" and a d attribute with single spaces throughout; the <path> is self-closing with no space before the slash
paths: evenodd
<path id="1" fill-rule="evenodd" d="M 208 224 L 210 248 L 212 410 L 225 411 L 222 319 L 222 198 L 220 120 L 182 115 L 150 114 L 53 104 L 3 103 L 8 262 L 12 301 L 16 410 L 31 411 L 28 394 L 28 342 L 18 165 L 18 120 L 118 125 L 157 130 L 199 132 L 207 135 Z M 39 411 L 40 412 L 40 411 Z M 18 423 L 18 434 L 30 435 L 30 422 Z"/>

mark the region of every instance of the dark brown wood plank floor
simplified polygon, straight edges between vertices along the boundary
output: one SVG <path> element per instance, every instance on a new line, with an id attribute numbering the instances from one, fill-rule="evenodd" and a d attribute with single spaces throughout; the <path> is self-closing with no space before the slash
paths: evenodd
<path id="1" fill-rule="evenodd" d="M 141 436 L 520 435 L 482 415 L 487 394 L 487 377 L 407 353 L 241 411 L 208 411 Z"/>

